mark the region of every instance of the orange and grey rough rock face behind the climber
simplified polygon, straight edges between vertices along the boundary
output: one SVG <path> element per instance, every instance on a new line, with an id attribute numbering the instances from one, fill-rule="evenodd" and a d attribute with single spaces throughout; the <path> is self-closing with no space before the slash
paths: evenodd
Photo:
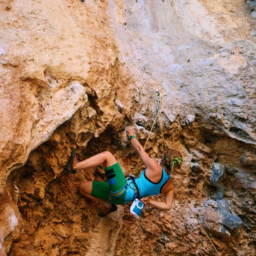
<path id="1" fill-rule="evenodd" d="M 254 3 L 1 1 L 0 255 L 215 255 L 177 190 L 169 212 L 99 218 L 77 187 L 102 167 L 63 171 L 73 146 L 134 172 L 125 128 L 145 143 L 159 90 L 177 186 L 222 255 L 254 256 Z M 163 154 L 158 124 L 146 151 Z"/>

